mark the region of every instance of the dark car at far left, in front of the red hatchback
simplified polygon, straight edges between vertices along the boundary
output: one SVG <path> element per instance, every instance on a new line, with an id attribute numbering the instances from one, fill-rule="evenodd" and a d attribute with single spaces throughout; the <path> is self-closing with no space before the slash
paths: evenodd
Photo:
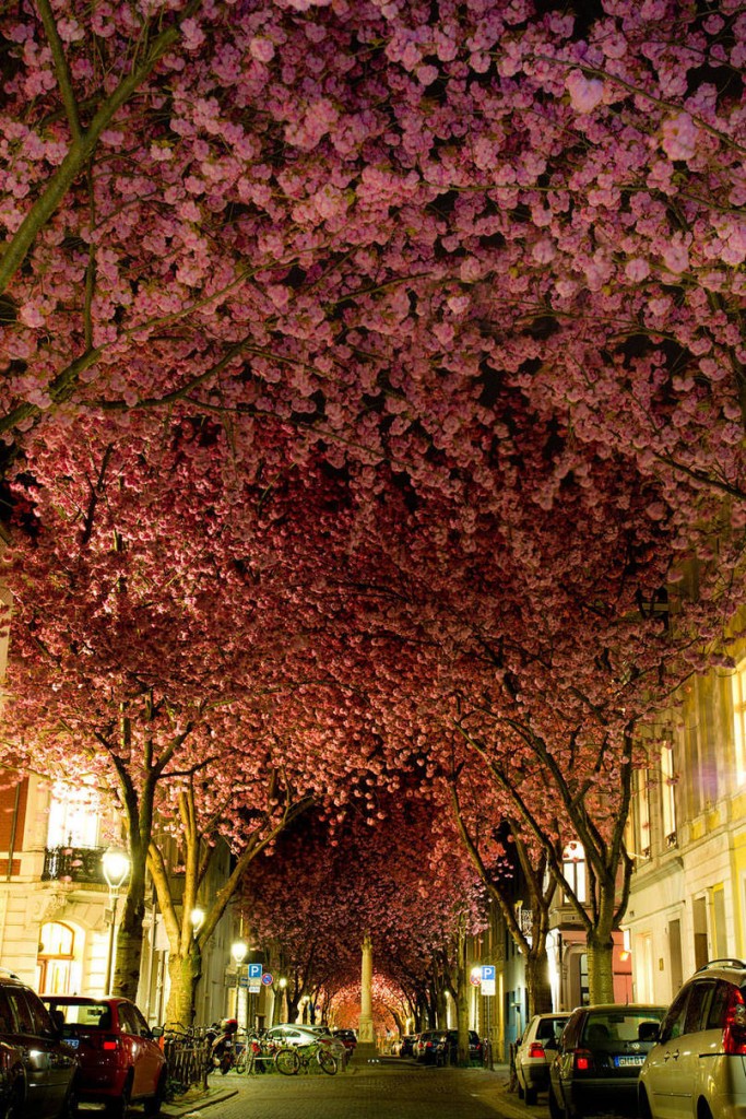
<path id="1" fill-rule="evenodd" d="M 0 1071 L 3 1116 L 75 1116 L 77 1057 L 39 996 L 9 972 L 0 975 Z"/>

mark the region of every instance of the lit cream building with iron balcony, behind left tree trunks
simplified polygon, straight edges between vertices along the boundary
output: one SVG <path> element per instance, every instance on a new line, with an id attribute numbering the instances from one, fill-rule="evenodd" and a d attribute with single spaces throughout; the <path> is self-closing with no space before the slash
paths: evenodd
<path id="1" fill-rule="evenodd" d="M 115 909 L 102 857 L 117 834 L 111 802 L 92 783 L 8 773 L 0 788 L 0 966 L 45 994 L 103 995 L 115 943 Z M 228 874 L 227 848 L 205 883 L 213 896 Z M 174 875 L 178 891 L 178 874 Z M 164 1022 L 169 943 L 151 891 L 143 921 L 138 1004 Z M 195 1021 L 236 1009 L 237 975 L 226 913 L 202 955 Z"/>

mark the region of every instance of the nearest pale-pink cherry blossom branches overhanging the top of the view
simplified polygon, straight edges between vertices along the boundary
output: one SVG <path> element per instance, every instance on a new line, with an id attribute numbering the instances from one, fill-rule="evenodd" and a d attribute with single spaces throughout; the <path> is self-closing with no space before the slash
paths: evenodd
<path id="1" fill-rule="evenodd" d="M 573 431 L 555 485 L 610 444 L 682 534 L 740 517 L 745 34 L 737 0 L 19 6 L 4 431 L 179 403 L 494 497 L 508 383 Z"/>

